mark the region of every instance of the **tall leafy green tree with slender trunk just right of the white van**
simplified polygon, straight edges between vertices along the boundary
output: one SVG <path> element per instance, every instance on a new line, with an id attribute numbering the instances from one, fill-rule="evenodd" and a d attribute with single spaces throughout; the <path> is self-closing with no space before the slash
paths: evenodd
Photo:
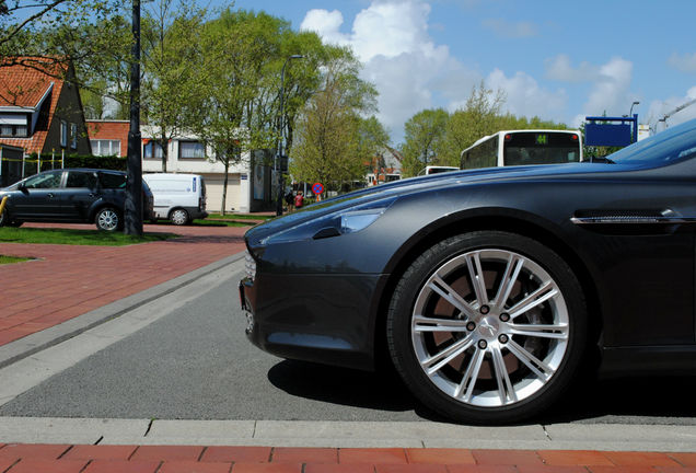
<path id="1" fill-rule="evenodd" d="M 278 39 L 259 24 L 287 23 L 266 13 L 244 10 L 221 12 L 204 25 L 196 54 L 198 89 L 190 102 L 187 123 L 224 166 L 222 211 L 227 201 L 229 168 L 243 153 L 268 145 L 268 129 L 257 126 L 255 101 L 267 83 L 264 72 L 278 58 Z"/>

